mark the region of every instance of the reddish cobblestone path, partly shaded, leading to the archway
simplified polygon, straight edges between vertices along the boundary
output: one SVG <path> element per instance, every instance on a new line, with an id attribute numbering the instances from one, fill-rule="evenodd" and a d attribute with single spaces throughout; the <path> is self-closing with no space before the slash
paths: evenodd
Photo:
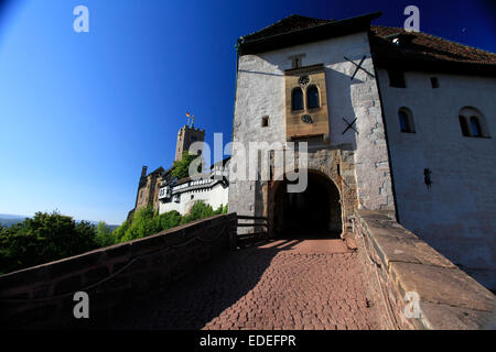
<path id="1" fill-rule="evenodd" d="M 115 329 L 378 329 L 357 254 L 341 240 L 228 253 L 120 312 Z"/>

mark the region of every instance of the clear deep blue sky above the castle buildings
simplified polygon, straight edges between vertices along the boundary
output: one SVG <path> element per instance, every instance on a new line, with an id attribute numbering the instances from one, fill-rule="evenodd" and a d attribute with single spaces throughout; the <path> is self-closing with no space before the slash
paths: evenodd
<path id="1" fill-rule="evenodd" d="M 89 33 L 73 9 L 89 9 Z M 17 0 L 0 14 L 0 213 L 120 223 L 142 165 L 172 164 L 185 111 L 231 134 L 236 40 L 287 15 L 420 30 L 496 52 L 490 1 Z"/>

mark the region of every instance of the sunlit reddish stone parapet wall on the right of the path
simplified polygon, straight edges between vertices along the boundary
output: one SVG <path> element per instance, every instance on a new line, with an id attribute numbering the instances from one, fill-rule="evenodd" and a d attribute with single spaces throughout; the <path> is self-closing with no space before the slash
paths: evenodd
<path id="1" fill-rule="evenodd" d="M 353 232 L 384 329 L 495 328 L 493 293 L 386 212 L 357 209 Z"/>

